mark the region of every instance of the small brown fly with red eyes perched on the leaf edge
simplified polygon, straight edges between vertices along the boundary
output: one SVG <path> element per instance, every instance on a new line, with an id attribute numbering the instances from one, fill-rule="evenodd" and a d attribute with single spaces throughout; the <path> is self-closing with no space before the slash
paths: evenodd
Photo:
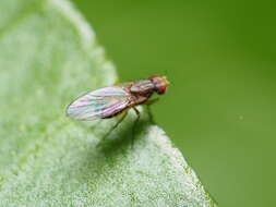
<path id="1" fill-rule="evenodd" d="M 127 117 L 129 109 L 134 109 L 139 121 L 137 105 L 151 105 L 157 99 L 149 100 L 154 93 L 165 94 L 169 82 L 165 76 L 153 75 L 146 80 L 127 82 L 121 85 L 93 90 L 69 105 L 68 117 L 75 120 L 108 119 L 123 113 L 111 129 L 116 129 Z M 109 134 L 109 133 L 108 133 Z"/>

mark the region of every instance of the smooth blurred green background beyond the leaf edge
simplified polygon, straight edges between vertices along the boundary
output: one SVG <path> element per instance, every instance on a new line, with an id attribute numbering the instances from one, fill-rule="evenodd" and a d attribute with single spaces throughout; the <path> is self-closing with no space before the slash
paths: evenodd
<path id="1" fill-rule="evenodd" d="M 275 1 L 73 2 L 120 81 L 168 76 L 155 120 L 219 206 L 275 206 Z"/>

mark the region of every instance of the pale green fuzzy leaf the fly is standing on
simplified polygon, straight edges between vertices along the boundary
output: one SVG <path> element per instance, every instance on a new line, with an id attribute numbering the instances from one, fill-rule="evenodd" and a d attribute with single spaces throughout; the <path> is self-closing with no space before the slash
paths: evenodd
<path id="1" fill-rule="evenodd" d="M 0 14 L 0 206 L 216 206 L 143 108 L 135 134 L 130 113 L 106 139 L 116 119 L 65 117 L 117 80 L 68 1 L 1 0 Z"/>

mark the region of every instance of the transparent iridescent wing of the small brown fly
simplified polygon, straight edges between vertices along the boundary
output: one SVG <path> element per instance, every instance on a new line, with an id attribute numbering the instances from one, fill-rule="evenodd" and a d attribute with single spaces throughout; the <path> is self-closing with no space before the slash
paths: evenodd
<path id="1" fill-rule="evenodd" d="M 88 93 L 67 109 L 67 114 L 77 120 L 94 120 L 110 117 L 128 107 L 129 94 L 119 86 L 104 87 Z"/>

